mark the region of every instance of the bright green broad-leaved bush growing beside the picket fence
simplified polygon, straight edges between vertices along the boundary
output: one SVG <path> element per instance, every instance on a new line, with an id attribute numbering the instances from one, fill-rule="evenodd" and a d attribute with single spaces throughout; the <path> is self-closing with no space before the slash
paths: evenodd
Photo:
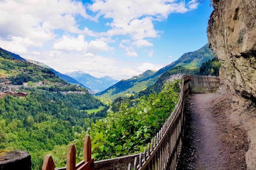
<path id="1" fill-rule="evenodd" d="M 114 158 L 140 152 L 159 131 L 173 111 L 179 99 L 180 80 L 166 83 L 159 94 L 142 96 L 129 107 L 123 101 L 118 112 L 110 107 L 105 119 L 100 119 L 82 134 L 75 133 L 78 161 L 82 160 L 83 138 L 89 134 L 92 139 L 92 153 L 96 160 Z"/>

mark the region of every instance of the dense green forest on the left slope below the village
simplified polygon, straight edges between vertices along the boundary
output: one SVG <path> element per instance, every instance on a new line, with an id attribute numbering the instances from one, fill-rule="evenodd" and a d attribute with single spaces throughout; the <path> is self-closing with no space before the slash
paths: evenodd
<path id="1" fill-rule="evenodd" d="M 74 140 L 75 132 L 105 117 L 104 112 L 87 114 L 103 105 L 88 93 L 25 90 L 24 98 L 0 98 L 0 149 L 29 151 L 33 169 L 41 169 L 49 151 Z"/>

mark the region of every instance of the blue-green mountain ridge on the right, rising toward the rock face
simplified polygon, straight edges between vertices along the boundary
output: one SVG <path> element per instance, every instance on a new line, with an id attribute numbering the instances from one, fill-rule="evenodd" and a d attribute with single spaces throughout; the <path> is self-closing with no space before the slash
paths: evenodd
<path id="1" fill-rule="evenodd" d="M 138 93 L 141 90 L 145 90 L 148 86 L 153 85 L 163 73 L 173 67 L 181 66 L 181 68 L 174 70 L 178 70 L 179 73 L 182 70 L 186 70 L 187 72 L 187 70 L 198 69 L 202 63 L 212 58 L 214 58 L 214 54 L 208 45 L 205 45 L 199 50 L 183 54 L 179 59 L 163 67 L 157 72 L 147 70 L 139 76 L 133 76 L 132 78 L 121 80 L 120 82 L 117 82 L 117 84 L 114 84 L 108 89 L 96 93 L 95 95 L 110 99 L 124 96 L 129 97 L 131 94 Z"/>

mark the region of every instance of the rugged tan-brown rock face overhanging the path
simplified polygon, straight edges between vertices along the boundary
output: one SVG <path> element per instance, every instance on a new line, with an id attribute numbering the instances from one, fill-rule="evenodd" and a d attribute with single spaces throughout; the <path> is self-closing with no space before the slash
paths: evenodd
<path id="1" fill-rule="evenodd" d="M 208 43 L 221 61 L 221 77 L 256 98 L 256 0 L 212 0 Z M 226 75 L 223 75 L 226 74 Z"/>

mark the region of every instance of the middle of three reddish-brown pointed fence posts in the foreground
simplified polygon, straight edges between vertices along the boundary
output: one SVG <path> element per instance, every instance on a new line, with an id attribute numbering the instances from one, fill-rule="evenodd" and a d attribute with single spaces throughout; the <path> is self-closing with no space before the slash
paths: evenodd
<path id="1" fill-rule="evenodd" d="M 71 143 L 67 152 L 67 170 L 76 169 L 76 147 Z"/>

